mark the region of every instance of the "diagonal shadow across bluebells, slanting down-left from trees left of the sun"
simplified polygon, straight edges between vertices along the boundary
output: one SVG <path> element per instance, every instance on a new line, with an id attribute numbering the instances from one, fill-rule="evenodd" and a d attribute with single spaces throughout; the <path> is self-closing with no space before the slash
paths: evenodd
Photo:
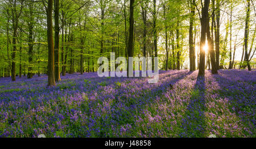
<path id="1" fill-rule="evenodd" d="M 114 120 L 114 123 L 112 124 L 118 126 L 131 125 L 131 127 L 136 129 L 134 126 L 135 115 L 142 113 L 143 109 L 145 109 L 147 105 L 150 105 L 156 100 L 156 96 L 159 96 L 160 94 L 166 92 L 166 90 L 170 89 L 170 85 L 174 85 L 176 82 L 182 80 L 184 77 L 188 76 L 191 73 L 192 72 L 180 72 L 180 76 L 177 76 L 170 81 L 162 82 L 160 86 L 144 92 L 141 96 L 137 98 L 127 98 L 122 95 L 123 90 L 118 90 L 118 93 L 114 95 L 115 104 L 112 105 L 111 117 L 112 120 Z M 168 77 L 168 75 L 165 77 Z M 119 96 L 120 100 L 117 100 L 117 96 Z M 116 107 L 120 105 L 123 105 L 123 108 L 118 108 L 118 110 L 116 110 Z M 102 123 L 101 125 L 106 125 L 106 123 Z M 105 131 L 106 132 L 101 131 L 99 137 L 107 137 L 106 134 L 108 132 L 107 130 Z"/>

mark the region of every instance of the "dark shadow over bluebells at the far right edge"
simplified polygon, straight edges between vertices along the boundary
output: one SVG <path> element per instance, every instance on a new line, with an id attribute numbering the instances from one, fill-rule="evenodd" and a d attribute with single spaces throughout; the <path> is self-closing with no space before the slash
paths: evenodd
<path id="1" fill-rule="evenodd" d="M 235 74 L 213 75 L 217 84 L 220 86 L 219 94 L 221 98 L 228 99 L 229 110 L 236 113 L 241 118 L 243 125 L 247 126 L 250 135 L 255 134 L 255 78 L 250 76 L 238 76 L 241 72 Z M 222 76 L 222 75 L 225 75 Z M 232 77 L 233 76 L 233 77 Z M 246 129 L 247 129 L 246 128 Z"/>

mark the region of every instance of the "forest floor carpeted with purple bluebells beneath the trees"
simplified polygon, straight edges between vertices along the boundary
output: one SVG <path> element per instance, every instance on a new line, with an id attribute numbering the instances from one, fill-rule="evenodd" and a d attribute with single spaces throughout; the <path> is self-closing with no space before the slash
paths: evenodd
<path id="1" fill-rule="evenodd" d="M 256 71 L 0 78 L 0 137 L 256 137 Z"/>

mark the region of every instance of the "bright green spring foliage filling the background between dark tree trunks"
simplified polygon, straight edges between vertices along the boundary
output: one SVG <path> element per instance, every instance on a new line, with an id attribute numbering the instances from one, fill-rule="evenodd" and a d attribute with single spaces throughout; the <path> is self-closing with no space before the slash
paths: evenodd
<path id="1" fill-rule="evenodd" d="M 0 75 L 3 76 L 5 68 L 10 69 L 11 62 L 15 62 L 16 74 L 27 74 L 28 67 L 30 72 L 47 73 L 48 48 L 47 48 L 47 30 L 46 30 L 46 12 L 42 13 L 42 2 L 24 1 L 23 6 L 20 1 L 11 2 L 10 0 L 0 2 Z M 137 3 L 137 2 L 135 2 Z M 177 52 L 180 52 L 180 63 L 183 68 L 188 68 L 188 34 L 189 34 L 189 16 L 190 3 L 189 1 L 156 1 L 156 35 L 158 36 L 158 57 L 159 68 L 165 68 L 166 65 L 166 41 L 168 49 L 168 63 L 172 67 L 177 64 Z M 245 3 L 245 2 L 242 2 Z M 233 17 L 233 32 L 237 30 L 243 31 L 245 8 L 237 9 L 240 2 L 230 1 L 221 5 L 221 10 L 226 10 L 230 14 L 230 7 L 233 7 L 233 14 L 240 15 Z M 196 1 L 197 9 L 201 10 L 200 1 Z M 212 5 L 212 4 L 211 4 Z M 210 5 L 210 7 L 212 7 Z M 16 10 L 21 10 L 18 18 L 18 37 L 16 38 L 15 57 L 13 55 L 13 16 L 11 10 L 16 7 Z M 74 2 L 72 0 L 60 1 L 60 41 L 59 41 L 59 58 L 60 71 L 63 67 L 67 73 L 80 71 L 80 56 L 83 58 L 83 68 L 86 72 L 96 71 L 98 68 L 97 59 L 101 56 L 108 57 L 110 52 L 115 52 L 116 56 L 127 55 L 127 35 L 129 35 L 129 2 L 126 1 L 124 6 L 123 1 L 99 1 L 94 0 L 86 3 Z M 163 9 L 165 8 L 165 9 Z M 125 10 L 126 9 L 126 10 Z M 125 10 L 125 11 L 124 11 Z M 142 10 L 147 12 L 146 25 L 144 25 Z M 143 55 L 143 41 L 146 41 L 146 54 L 153 56 L 154 48 L 153 36 L 153 1 L 140 1 L 134 7 L 134 56 L 141 57 Z M 165 13 L 164 13 L 165 10 Z M 209 9 L 209 14 L 212 9 Z M 7 13 L 7 11 L 9 13 Z M 243 11 L 243 13 L 242 13 Z M 31 14 L 30 14 L 31 12 Z M 39 13 L 40 12 L 40 13 Z M 253 12 L 251 12 L 253 13 Z M 54 15 L 54 13 L 53 13 Z M 225 65 L 228 60 L 229 52 L 229 35 L 230 35 L 230 20 L 228 15 L 221 12 L 221 37 L 220 37 L 220 64 Z M 14 17 L 14 18 L 13 18 Z M 126 18 L 125 18 L 126 17 Z M 240 19 L 238 19 L 240 18 Z M 241 19 L 242 18 L 242 19 Z M 64 22 L 62 22 L 64 20 Z M 210 25 L 212 20 L 210 20 Z M 255 22 L 255 19 L 250 19 L 250 24 Z M 54 23 L 54 22 L 53 22 Z M 29 39 L 29 27 L 32 26 L 32 42 Z M 54 26 L 54 24 L 53 24 Z M 146 39 L 143 36 L 144 26 L 146 27 Z M 200 38 L 200 19 L 199 13 L 196 11 L 194 22 L 196 45 L 199 45 Z M 212 27 L 212 26 L 210 26 Z M 62 32 L 63 29 L 63 32 Z M 7 36 L 8 31 L 8 36 Z M 179 31 L 179 35 L 177 35 Z M 253 29 L 249 30 L 249 44 L 253 45 Z M 237 34 L 237 50 L 241 50 L 242 44 L 238 44 L 238 40 L 243 41 L 243 34 Z M 7 38 L 9 44 L 7 44 Z M 233 38 L 234 40 L 234 38 Z M 32 53 L 28 54 L 28 45 L 32 44 Z M 8 45 L 8 46 L 7 46 Z M 179 48 L 177 48 L 179 45 Z M 248 47 L 251 47 L 250 45 Z M 8 49 L 8 50 L 7 50 Z M 196 48 L 196 52 L 198 48 Z M 251 52 L 252 54 L 253 52 Z M 32 58 L 31 63 L 28 62 Z M 65 64 L 64 64 L 65 62 Z M 250 62 L 255 65 L 255 62 Z M 19 66 L 21 69 L 19 69 Z M 73 70 L 74 69 L 74 70 Z M 19 72 L 21 71 L 21 72 Z M 73 71 L 73 72 L 72 72 Z"/>

